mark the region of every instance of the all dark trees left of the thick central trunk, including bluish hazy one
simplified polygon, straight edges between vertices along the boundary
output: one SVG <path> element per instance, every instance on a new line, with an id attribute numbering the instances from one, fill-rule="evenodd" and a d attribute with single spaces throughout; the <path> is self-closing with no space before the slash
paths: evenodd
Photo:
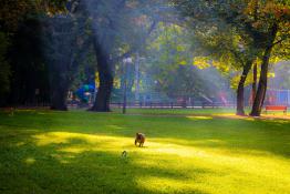
<path id="1" fill-rule="evenodd" d="M 50 105 L 66 110 L 68 90 L 91 49 L 82 43 L 87 43 L 90 32 L 75 13 L 77 3 L 2 2 L 1 106 Z"/>

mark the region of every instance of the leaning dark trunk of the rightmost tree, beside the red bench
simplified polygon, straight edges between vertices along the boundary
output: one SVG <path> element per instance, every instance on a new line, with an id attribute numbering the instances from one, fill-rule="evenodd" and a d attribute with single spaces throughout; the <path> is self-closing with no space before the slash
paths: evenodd
<path id="1" fill-rule="evenodd" d="M 265 95 L 267 91 L 267 81 L 268 81 L 267 74 L 268 74 L 269 60 L 270 60 L 271 51 L 273 48 L 273 41 L 276 39 L 277 31 L 278 31 L 278 27 L 277 24 L 275 24 L 271 30 L 271 34 L 270 34 L 271 37 L 270 37 L 269 43 L 262 57 L 260 80 L 259 80 L 258 91 L 255 96 L 255 101 L 253 101 L 251 113 L 250 113 L 251 116 L 260 116 L 261 114 Z"/>

